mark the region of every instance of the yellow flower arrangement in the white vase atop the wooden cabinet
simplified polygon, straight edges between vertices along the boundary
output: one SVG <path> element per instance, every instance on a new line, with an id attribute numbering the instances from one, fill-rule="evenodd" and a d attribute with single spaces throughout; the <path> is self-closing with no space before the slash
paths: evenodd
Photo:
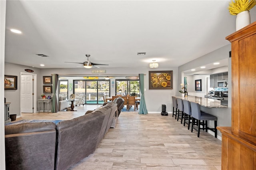
<path id="1" fill-rule="evenodd" d="M 237 15 L 240 12 L 248 11 L 256 5 L 256 0 L 233 0 L 229 3 L 228 10 L 231 15 Z"/>

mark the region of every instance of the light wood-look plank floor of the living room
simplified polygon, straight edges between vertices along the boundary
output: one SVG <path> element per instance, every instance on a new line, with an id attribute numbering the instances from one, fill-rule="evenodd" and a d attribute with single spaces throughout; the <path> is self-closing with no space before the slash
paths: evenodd
<path id="1" fill-rule="evenodd" d="M 19 119 L 66 120 L 84 115 L 82 109 L 76 109 L 26 113 Z M 116 128 L 110 128 L 96 151 L 70 170 L 220 170 L 221 141 L 204 131 L 200 138 L 196 133 L 170 113 L 161 116 L 121 112 Z"/>

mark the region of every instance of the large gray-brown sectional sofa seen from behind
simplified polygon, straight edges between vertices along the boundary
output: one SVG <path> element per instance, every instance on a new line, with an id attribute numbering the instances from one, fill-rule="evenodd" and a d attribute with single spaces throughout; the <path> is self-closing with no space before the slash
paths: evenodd
<path id="1" fill-rule="evenodd" d="M 5 126 L 6 169 L 66 170 L 92 154 L 112 123 L 117 104 L 54 123 Z"/>

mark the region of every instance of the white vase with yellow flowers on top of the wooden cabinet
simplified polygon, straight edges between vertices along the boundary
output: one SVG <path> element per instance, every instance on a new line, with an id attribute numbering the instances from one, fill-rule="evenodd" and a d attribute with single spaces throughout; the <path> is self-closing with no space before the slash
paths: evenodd
<path id="1" fill-rule="evenodd" d="M 231 15 L 236 15 L 236 31 L 251 23 L 249 10 L 256 5 L 256 0 L 233 0 L 229 3 L 228 10 Z"/>

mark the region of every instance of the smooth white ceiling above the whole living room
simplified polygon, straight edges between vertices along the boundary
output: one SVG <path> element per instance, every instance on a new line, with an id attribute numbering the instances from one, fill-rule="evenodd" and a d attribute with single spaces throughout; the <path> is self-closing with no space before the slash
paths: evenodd
<path id="1" fill-rule="evenodd" d="M 236 16 L 228 3 L 7 0 L 5 61 L 77 68 L 80 64 L 64 61 L 84 62 L 90 54 L 91 62 L 109 64 L 101 68 L 148 67 L 152 60 L 159 67 L 178 67 L 229 43 L 225 37 L 235 32 Z"/>

